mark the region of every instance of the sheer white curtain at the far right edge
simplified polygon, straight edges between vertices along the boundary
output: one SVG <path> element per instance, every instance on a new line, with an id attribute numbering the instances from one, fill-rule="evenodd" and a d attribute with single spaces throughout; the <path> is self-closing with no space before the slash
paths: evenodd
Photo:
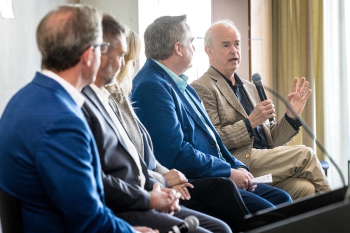
<path id="1" fill-rule="evenodd" d="M 324 0 L 324 146 L 336 164 L 328 172 L 334 189 L 344 185 L 336 166 L 347 185 L 350 160 L 349 1 Z"/>

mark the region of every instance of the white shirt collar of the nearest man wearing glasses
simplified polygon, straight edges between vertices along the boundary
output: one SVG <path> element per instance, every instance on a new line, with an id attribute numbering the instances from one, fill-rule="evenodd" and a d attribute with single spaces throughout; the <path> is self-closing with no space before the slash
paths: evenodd
<path id="1" fill-rule="evenodd" d="M 58 82 L 64 88 L 64 90 L 68 92 L 68 94 L 74 100 L 76 105 L 79 108 L 81 108 L 81 106 L 84 104 L 85 98 L 73 85 L 71 85 L 69 82 L 67 82 L 65 79 L 60 77 L 58 74 L 52 72 L 51 70 L 42 69 L 40 73 Z"/>

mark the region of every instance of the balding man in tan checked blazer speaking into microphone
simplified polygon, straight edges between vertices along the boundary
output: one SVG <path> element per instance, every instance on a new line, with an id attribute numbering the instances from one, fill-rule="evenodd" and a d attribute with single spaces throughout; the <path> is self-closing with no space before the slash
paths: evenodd
<path id="1" fill-rule="evenodd" d="M 299 133 L 298 119 L 311 93 L 304 77 L 294 78 L 286 97 L 285 114 L 276 122 L 270 99 L 261 100 L 254 84 L 236 73 L 240 63 L 240 33 L 229 20 L 220 20 L 206 31 L 204 49 L 208 70 L 190 85 L 203 101 L 210 120 L 230 153 L 255 176 L 271 173 L 271 185 L 292 199 L 331 186 L 313 150 L 303 145 L 283 146 Z M 269 120 L 270 119 L 270 120 Z M 271 124 L 270 124 L 271 121 Z"/>

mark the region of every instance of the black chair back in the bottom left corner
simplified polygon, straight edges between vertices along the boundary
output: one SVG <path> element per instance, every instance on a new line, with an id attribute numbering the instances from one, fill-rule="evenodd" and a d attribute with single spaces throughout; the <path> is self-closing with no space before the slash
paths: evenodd
<path id="1" fill-rule="evenodd" d="M 2 233 L 22 233 L 19 201 L 0 190 L 0 221 Z"/>

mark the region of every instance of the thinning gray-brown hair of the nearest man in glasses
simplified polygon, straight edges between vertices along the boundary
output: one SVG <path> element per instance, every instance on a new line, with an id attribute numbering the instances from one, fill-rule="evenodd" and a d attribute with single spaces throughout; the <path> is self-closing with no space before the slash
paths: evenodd
<path id="1" fill-rule="evenodd" d="M 36 29 L 41 68 L 66 70 L 102 33 L 102 14 L 97 8 L 64 4 L 48 12 Z"/>

